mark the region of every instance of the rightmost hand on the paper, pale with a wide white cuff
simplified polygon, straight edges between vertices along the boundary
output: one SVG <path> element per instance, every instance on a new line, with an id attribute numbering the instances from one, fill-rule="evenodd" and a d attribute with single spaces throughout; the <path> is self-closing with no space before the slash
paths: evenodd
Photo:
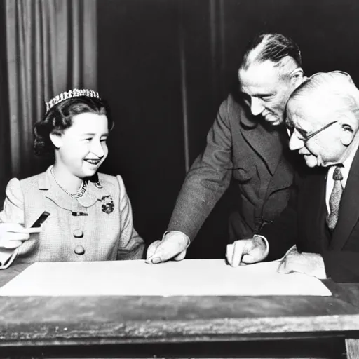
<path id="1" fill-rule="evenodd" d="M 304 273 L 318 279 L 327 278 L 324 261 L 317 253 L 299 253 L 297 248 L 287 252 L 278 266 L 278 273 Z"/>

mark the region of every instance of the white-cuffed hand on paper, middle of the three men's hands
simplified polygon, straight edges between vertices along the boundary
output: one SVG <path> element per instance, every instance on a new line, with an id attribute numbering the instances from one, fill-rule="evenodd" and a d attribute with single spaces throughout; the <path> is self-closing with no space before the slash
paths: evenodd
<path id="1" fill-rule="evenodd" d="M 231 266 L 261 262 L 267 255 L 268 245 L 262 236 L 240 239 L 226 248 L 226 259 Z"/>

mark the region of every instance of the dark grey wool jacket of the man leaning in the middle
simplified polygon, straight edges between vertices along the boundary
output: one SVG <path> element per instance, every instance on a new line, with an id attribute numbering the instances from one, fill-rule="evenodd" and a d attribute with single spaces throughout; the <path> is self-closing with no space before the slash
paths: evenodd
<path id="1" fill-rule="evenodd" d="M 293 154 L 283 145 L 284 131 L 282 126 L 266 127 L 261 116 L 252 116 L 240 98 L 229 95 L 210 128 L 205 151 L 187 173 L 168 230 L 193 240 L 231 179 L 239 189 L 232 239 L 252 237 L 277 217 L 294 191 Z"/>

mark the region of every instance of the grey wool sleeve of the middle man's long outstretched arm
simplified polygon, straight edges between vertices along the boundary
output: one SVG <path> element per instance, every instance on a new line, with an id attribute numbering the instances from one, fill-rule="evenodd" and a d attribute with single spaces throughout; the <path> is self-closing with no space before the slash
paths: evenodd
<path id="1" fill-rule="evenodd" d="M 228 100 L 219 107 L 207 145 L 184 179 L 168 231 L 181 231 L 192 241 L 231 181 L 232 138 Z"/>

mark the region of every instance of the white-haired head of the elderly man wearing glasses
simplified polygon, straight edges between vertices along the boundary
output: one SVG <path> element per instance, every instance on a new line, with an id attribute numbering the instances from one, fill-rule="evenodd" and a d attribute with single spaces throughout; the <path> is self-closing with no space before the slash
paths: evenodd
<path id="1" fill-rule="evenodd" d="M 345 72 L 306 79 L 287 102 L 289 146 L 309 167 L 344 163 L 359 146 L 359 90 Z"/>

